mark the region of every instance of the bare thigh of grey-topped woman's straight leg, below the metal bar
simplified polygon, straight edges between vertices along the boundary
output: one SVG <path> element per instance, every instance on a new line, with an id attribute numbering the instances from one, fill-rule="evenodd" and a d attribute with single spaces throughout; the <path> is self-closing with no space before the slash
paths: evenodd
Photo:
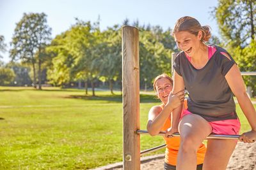
<path id="1" fill-rule="evenodd" d="M 234 139 L 208 139 L 203 169 L 225 170 L 236 143 Z"/>

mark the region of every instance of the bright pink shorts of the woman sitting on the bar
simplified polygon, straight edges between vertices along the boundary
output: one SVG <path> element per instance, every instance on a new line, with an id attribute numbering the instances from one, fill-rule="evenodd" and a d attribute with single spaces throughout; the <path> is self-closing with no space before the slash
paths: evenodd
<path id="1" fill-rule="evenodd" d="M 183 110 L 180 119 L 186 115 L 193 114 L 188 110 Z M 227 119 L 218 120 L 213 122 L 208 122 L 212 127 L 212 134 L 226 134 L 226 135 L 236 135 L 240 131 L 240 121 L 239 119 Z"/>

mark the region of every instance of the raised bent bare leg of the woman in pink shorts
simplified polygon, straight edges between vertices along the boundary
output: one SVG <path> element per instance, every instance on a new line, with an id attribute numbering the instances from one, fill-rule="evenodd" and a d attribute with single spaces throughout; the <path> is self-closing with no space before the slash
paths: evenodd
<path id="1" fill-rule="evenodd" d="M 179 124 L 180 148 L 177 170 L 196 169 L 196 152 L 202 141 L 212 132 L 211 125 L 195 114 L 186 115 Z"/>

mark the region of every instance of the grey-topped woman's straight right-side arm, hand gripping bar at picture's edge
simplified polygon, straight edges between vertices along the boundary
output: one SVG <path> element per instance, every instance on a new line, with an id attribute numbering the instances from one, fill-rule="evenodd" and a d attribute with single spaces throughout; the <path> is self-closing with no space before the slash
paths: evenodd
<path id="1" fill-rule="evenodd" d="M 245 143 L 252 143 L 253 140 L 256 139 L 256 112 L 253 108 L 252 102 L 246 94 L 244 81 L 236 64 L 231 67 L 225 75 L 225 78 L 230 89 L 237 97 L 239 106 L 252 127 L 252 131 L 242 134 L 239 139 Z"/>

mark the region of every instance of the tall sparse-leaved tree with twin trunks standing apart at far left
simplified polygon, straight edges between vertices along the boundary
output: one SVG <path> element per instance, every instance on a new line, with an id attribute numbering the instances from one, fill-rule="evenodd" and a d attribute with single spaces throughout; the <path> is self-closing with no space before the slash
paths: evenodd
<path id="1" fill-rule="evenodd" d="M 50 41 L 51 28 L 47 25 L 47 15 L 45 13 L 24 13 L 22 19 L 16 24 L 13 34 L 10 56 L 12 60 L 32 64 L 33 86 L 36 88 L 36 63 L 38 64 L 38 74 L 41 74 L 42 58 L 40 56 L 42 48 Z M 40 76 L 39 76 L 40 77 Z M 41 89 L 40 78 L 38 88 Z"/>

